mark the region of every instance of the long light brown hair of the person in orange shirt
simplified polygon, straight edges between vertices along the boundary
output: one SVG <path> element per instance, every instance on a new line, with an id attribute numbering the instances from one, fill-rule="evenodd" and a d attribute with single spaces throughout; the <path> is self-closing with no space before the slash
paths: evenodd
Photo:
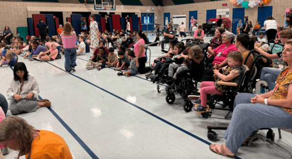
<path id="1" fill-rule="evenodd" d="M 0 122 L 0 142 L 16 140 L 18 157 L 29 154 L 36 129 L 18 116 L 9 116 Z"/>

